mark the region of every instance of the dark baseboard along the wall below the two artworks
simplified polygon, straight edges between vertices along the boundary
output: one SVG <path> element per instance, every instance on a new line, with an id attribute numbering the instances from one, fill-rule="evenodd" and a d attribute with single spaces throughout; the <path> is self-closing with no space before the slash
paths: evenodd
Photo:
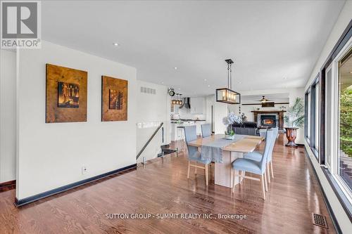
<path id="1" fill-rule="evenodd" d="M 113 171 L 108 171 L 108 172 L 100 174 L 98 176 L 93 176 L 91 178 L 86 178 L 86 179 L 84 179 L 82 181 L 77 181 L 75 183 L 70 183 L 70 184 L 68 184 L 66 186 L 61 186 L 61 187 L 58 187 L 58 188 L 54 188 L 54 189 L 46 191 L 44 193 L 39 193 L 37 195 L 32 195 L 30 197 L 26 197 L 26 198 L 23 198 L 23 199 L 20 199 L 20 200 L 18 200 L 18 198 L 15 197 L 15 203 L 14 204 L 15 204 L 16 207 L 21 207 L 21 206 L 23 206 L 25 204 L 29 204 L 29 203 L 35 202 L 35 201 L 43 199 L 45 197 L 56 195 L 58 193 L 63 193 L 65 191 L 67 191 L 67 190 L 70 190 L 70 189 L 73 189 L 73 188 L 77 188 L 79 186 L 83 186 L 86 183 L 91 183 L 91 182 L 97 181 L 97 180 L 99 180 L 101 178 L 104 178 L 104 177 L 107 177 L 107 176 L 111 176 L 113 174 L 117 174 L 117 173 L 119 173 L 121 171 L 125 171 L 127 169 L 132 169 L 134 167 L 137 167 L 137 164 L 132 164 L 132 165 L 129 165 L 127 167 L 122 167 L 120 169 L 115 169 Z"/>

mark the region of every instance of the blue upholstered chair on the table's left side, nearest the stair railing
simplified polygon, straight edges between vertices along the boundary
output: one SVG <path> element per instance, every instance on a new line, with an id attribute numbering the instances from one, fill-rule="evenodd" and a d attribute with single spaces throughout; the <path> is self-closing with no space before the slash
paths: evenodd
<path id="1" fill-rule="evenodd" d="M 187 143 L 187 150 L 188 150 L 188 170 L 187 170 L 187 178 L 189 178 L 189 169 L 190 167 L 194 167 L 194 174 L 197 173 L 197 168 L 204 169 L 206 174 L 206 186 L 208 186 L 208 164 L 211 162 L 210 160 L 202 160 L 201 159 L 201 152 L 199 152 L 198 147 L 189 145 L 188 143 L 191 141 L 195 141 L 197 138 L 196 135 L 196 125 L 193 126 L 184 126 L 184 138 Z M 194 162 L 194 164 L 191 164 Z M 203 167 L 197 165 L 203 164 Z"/>

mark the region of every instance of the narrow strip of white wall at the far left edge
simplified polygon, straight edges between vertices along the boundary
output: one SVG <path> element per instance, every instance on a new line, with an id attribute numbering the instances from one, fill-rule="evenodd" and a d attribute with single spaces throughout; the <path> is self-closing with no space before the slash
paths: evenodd
<path id="1" fill-rule="evenodd" d="M 0 183 L 15 179 L 16 54 L 0 50 Z"/>

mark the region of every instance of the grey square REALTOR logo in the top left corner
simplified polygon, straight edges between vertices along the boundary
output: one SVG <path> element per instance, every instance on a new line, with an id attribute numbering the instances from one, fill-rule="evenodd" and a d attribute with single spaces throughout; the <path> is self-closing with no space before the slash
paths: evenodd
<path id="1" fill-rule="evenodd" d="M 1 48 L 40 48 L 40 1 L 1 1 Z"/>

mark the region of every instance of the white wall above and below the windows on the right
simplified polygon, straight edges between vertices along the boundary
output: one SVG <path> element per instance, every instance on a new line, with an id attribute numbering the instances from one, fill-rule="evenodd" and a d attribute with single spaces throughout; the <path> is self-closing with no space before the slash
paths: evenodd
<path id="1" fill-rule="evenodd" d="M 332 48 L 334 48 L 334 45 L 339 40 L 339 37 L 341 37 L 348 23 L 351 21 L 351 15 L 352 15 L 352 1 L 346 1 L 344 8 L 342 9 L 339 15 L 339 18 L 337 19 L 337 22 L 334 25 L 334 28 L 331 34 L 329 35 L 329 38 L 327 39 L 327 42 L 324 48 L 322 49 L 320 58 L 318 59 L 313 69 L 313 72 L 310 74 L 310 79 L 306 84 L 305 90 L 308 89 L 308 86 L 310 86 L 310 84 L 313 82 L 313 79 L 315 79 L 318 72 L 320 72 L 320 68 L 322 67 L 322 65 L 324 65 L 325 60 L 327 59 L 327 56 L 329 56 L 329 53 L 332 51 Z M 327 181 L 325 174 L 322 172 L 322 169 L 320 168 L 318 161 L 315 159 L 315 156 L 313 155 L 313 152 L 310 150 L 308 143 L 306 141 L 305 141 L 305 145 L 306 145 L 306 150 L 308 152 L 310 160 L 313 163 L 313 167 L 315 168 L 315 171 L 317 171 L 318 178 L 327 196 L 327 200 L 329 200 L 329 203 L 332 207 L 334 215 L 337 218 L 337 221 L 339 222 L 339 226 L 342 232 L 351 233 L 351 221 L 348 219 L 346 212 L 344 212 L 344 208 L 341 206 L 337 196 L 334 193 L 334 190 L 332 190 L 332 187 L 329 185 L 329 181 Z"/>

